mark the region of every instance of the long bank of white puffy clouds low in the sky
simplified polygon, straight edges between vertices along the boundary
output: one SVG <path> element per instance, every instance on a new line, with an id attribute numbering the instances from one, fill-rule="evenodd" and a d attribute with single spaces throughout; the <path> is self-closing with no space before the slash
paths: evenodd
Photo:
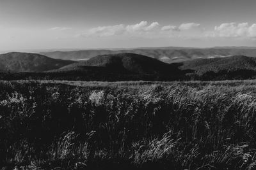
<path id="1" fill-rule="evenodd" d="M 61 27 L 52 30 L 64 30 Z M 106 36 L 134 36 L 147 38 L 256 38 L 256 24 L 223 23 L 212 29 L 205 29 L 203 25 L 189 22 L 180 25 L 161 25 L 158 22 L 141 21 L 132 25 L 108 25 L 88 29 L 77 36 L 106 37 Z"/>

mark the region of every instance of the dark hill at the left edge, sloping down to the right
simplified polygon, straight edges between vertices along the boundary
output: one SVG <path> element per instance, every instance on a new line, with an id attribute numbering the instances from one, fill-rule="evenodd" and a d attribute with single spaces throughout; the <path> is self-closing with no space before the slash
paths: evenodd
<path id="1" fill-rule="evenodd" d="M 11 52 L 0 55 L 0 71 L 49 71 L 72 63 L 74 61 L 51 59 L 36 53 Z"/>

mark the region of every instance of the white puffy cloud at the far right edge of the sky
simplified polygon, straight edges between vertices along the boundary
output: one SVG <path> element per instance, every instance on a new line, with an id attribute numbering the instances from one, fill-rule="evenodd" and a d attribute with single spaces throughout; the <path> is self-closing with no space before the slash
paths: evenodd
<path id="1" fill-rule="evenodd" d="M 256 24 L 249 25 L 247 22 L 239 23 L 223 23 L 220 26 L 214 27 L 214 32 L 211 32 L 215 37 L 256 37 Z"/>

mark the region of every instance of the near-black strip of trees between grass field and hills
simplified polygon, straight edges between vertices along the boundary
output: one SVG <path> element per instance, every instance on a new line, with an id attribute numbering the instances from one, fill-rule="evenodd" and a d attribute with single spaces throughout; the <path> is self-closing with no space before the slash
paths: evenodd
<path id="1" fill-rule="evenodd" d="M 192 72 L 192 71 L 190 71 Z M 0 72 L 0 80 L 79 80 L 79 81 L 190 81 L 190 80 L 246 80 L 255 79 L 256 71 L 247 69 L 207 71 L 204 74 L 188 71 L 166 74 L 111 73 L 108 71 L 67 72 Z"/>

